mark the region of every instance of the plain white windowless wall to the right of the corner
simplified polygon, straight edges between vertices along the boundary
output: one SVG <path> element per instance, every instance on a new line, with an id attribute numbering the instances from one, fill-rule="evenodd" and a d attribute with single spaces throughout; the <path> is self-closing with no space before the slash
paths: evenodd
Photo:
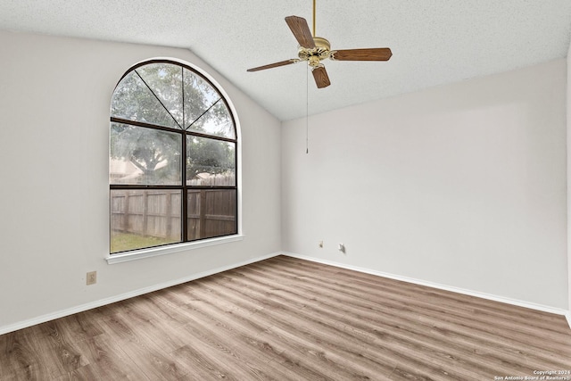
<path id="1" fill-rule="evenodd" d="M 309 154 L 285 122 L 284 251 L 567 310 L 565 84 L 560 59 L 319 114 Z"/>

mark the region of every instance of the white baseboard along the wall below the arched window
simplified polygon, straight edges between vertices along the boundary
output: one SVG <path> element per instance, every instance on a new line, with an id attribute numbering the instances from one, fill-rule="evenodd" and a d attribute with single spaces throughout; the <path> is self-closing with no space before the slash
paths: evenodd
<path id="1" fill-rule="evenodd" d="M 138 290 L 131 291 L 131 292 L 126 293 L 126 294 L 114 295 L 114 296 L 111 296 L 109 298 L 101 299 L 101 300 L 98 300 L 95 302 L 88 302 L 85 304 L 81 304 L 79 306 L 71 307 L 71 308 L 66 309 L 66 310 L 55 311 L 53 313 L 48 313 L 46 315 L 38 316 L 37 318 L 20 321 L 20 322 L 15 323 L 15 324 L 10 324 L 10 325 L 4 326 L 4 327 L 0 327 L 0 335 L 4 335 L 4 334 L 7 334 L 8 332 L 12 332 L 12 331 L 17 331 L 17 330 L 22 329 L 22 328 L 35 326 L 37 324 L 46 323 L 46 321 L 63 318 L 65 316 L 73 315 L 74 313 L 92 310 L 94 308 L 101 307 L 101 306 L 107 305 L 107 304 L 111 304 L 113 302 L 120 302 L 120 301 L 129 299 L 129 298 L 132 298 L 135 296 L 139 296 L 142 294 L 152 293 L 153 291 L 158 291 L 158 290 L 161 290 L 163 288 L 167 288 L 167 287 L 171 287 L 171 286 L 177 286 L 177 285 L 180 285 L 182 283 L 190 282 L 191 280 L 199 279 L 201 277 L 208 277 L 208 276 L 211 276 L 213 274 L 218 274 L 219 272 L 227 271 L 228 269 L 236 269 L 238 267 L 248 265 L 248 264 L 251 264 L 254 262 L 263 261 L 263 260 L 267 260 L 269 258 L 273 258 L 273 257 L 280 255 L 280 254 L 281 253 L 271 253 L 268 255 L 263 255 L 261 257 L 256 257 L 256 258 L 252 258 L 252 259 L 247 260 L 247 261 L 241 261 L 238 263 L 233 263 L 231 265 L 219 267 L 217 269 L 210 269 L 207 271 L 199 272 L 199 273 L 193 274 L 193 275 L 188 276 L 188 277 L 182 277 L 179 279 L 170 280 L 168 282 L 163 282 L 163 283 L 158 284 L 158 285 L 140 288 Z"/>

